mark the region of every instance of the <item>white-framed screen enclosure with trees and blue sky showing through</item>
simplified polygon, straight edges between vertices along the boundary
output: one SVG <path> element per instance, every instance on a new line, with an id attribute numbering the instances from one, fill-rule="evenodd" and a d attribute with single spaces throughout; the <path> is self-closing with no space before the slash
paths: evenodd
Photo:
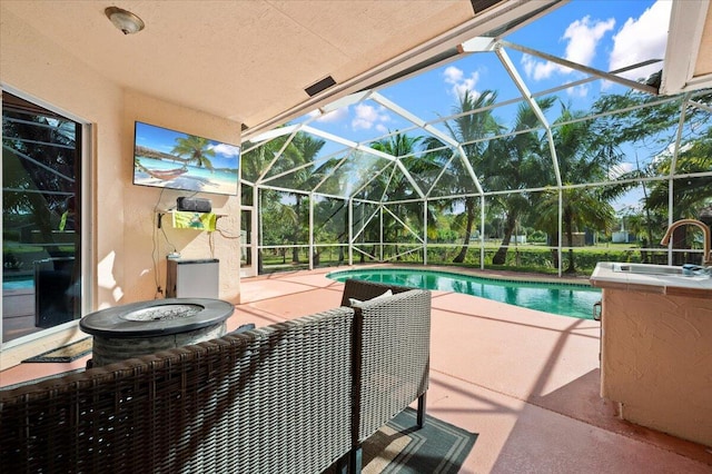
<path id="1" fill-rule="evenodd" d="M 694 228 L 661 239 L 711 224 L 712 90 L 671 93 L 671 3 L 565 3 L 248 132 L 244 266 L 702 263 Z"/>

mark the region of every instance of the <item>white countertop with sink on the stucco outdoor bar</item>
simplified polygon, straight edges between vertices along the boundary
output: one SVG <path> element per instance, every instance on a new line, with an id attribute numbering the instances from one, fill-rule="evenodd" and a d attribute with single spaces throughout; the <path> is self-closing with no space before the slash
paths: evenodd
<path id="1" fill-rule="evenodd" d="M 597 288 L 712 298 L 712 277 L 709 275 L 649 275 L 632 271 L 615 271 L 613 269 L 616 263 L 612 261 L 599 263 L 591 275 L 591 285 Z M 656 266 L 650 265 L 649 267 Z M 660 267 L 673 268 L 669 266 Z"/>

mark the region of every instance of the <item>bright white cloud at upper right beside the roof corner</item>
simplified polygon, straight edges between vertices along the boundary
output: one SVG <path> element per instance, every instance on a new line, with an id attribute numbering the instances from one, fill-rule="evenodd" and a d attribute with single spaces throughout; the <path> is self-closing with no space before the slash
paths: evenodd
<path id="1" fill-rule="evenodd" d="M 662 59 L 665 56 L 671 9 L 672 1 L 659 0 L 639 19 L 629 18 L 613 37 L 610 69 L 620 69 L 646 59 Z M 661 68 L 662 63 L 657 62 L 634 69 L 622 76 L 636 80 L 646 78 Z"/>

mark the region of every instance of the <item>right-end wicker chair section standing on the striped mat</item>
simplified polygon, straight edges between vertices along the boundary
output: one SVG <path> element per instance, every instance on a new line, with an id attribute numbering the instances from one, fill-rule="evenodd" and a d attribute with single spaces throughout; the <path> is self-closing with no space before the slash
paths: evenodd
<path id="1" fill-rule="evenodd" d="M 372 299 L 390 289 L 393 296 Z M 423 427 L 428 387 L 431 293 L 404 286 L 346 280 L 342 304 L 362 303 L 354 316 L 354 447 L 350 468 L 358 473 L 362 443 L 418 401 Z"/>

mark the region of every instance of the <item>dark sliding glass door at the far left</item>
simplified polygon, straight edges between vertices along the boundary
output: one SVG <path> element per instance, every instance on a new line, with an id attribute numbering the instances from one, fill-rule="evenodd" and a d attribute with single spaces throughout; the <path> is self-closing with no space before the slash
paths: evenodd
<path id="1" fill-rule="evenodd" d="M 2 342 L 81 317 L 81 125 L 2 92 Z"/>

